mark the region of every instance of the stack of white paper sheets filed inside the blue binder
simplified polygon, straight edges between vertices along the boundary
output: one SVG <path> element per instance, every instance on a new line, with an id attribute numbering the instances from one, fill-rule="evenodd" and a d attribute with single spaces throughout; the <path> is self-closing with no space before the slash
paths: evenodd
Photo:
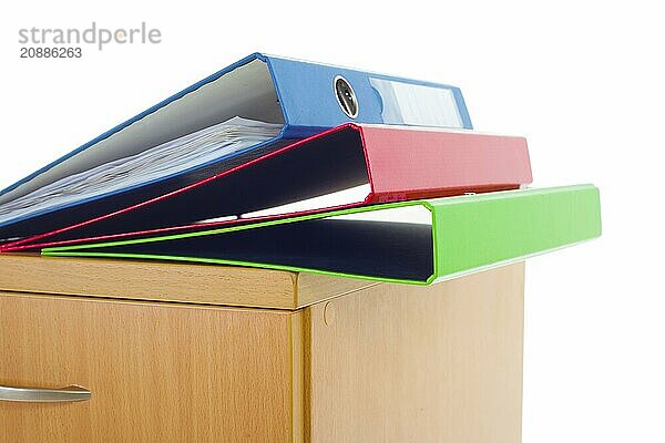
<path id="1" fill-rule="evenodd" d="M 0 223 L 166 177 L 265 142 L 282 124 L 233 117 L 0 205 Z"/>

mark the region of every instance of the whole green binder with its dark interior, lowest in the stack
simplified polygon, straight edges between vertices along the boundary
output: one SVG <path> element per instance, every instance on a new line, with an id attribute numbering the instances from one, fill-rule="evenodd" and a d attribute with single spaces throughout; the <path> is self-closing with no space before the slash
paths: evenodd
<path id="1" fill-rule="evenodd" d="M 55 247 L 47 256 L 241 265 L 427 285 L 601 235 L 592 185 L 503 190 Z"/>

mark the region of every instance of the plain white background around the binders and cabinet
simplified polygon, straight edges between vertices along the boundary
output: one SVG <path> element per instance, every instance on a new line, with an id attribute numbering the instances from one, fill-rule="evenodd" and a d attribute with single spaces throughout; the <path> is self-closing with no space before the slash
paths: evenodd
<path id="1" fill-rule="evenodd" d="M 528 137 L 534 186 L 602 193 L 600 240 L 528 264 L 524 442 L 665 441 L 657 2 L 11 4 L 0 188 L 254 51 L 459 85 L 477 130 Z M 93 20 L 163 42 L 19 59 L 20 28 Z"/>

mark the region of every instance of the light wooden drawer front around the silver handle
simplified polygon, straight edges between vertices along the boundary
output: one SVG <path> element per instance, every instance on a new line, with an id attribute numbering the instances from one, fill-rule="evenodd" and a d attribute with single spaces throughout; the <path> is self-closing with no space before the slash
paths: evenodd
<path id="1" fill-rule="evenodd" d="M 0 401 L 0 441 L 289 441 L 289 321 L 279 311 L 0 292 L 4 395 L 91 392 Z"/>

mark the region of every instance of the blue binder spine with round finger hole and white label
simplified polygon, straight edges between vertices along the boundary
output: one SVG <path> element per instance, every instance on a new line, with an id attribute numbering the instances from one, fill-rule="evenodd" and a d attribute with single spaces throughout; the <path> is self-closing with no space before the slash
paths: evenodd
<path id="1" fill-rule="evenodd" d="M 462 93 L 456 86 L 276 56 L 262 55 L 262 60 L 268 65 L 289 126 L 332 127 L 352 122 L 472 128 Z M 339 79 L 350 86 L 348 95 L 357 105 L 355 116 L 345 112 L 338 96 Z M 427 116 L 418 115 L 422 105 L 412 106 L 423 101 L 431 104 Z M 440 113 L 457 116 L 447 123 L 437 119 Z"/>

